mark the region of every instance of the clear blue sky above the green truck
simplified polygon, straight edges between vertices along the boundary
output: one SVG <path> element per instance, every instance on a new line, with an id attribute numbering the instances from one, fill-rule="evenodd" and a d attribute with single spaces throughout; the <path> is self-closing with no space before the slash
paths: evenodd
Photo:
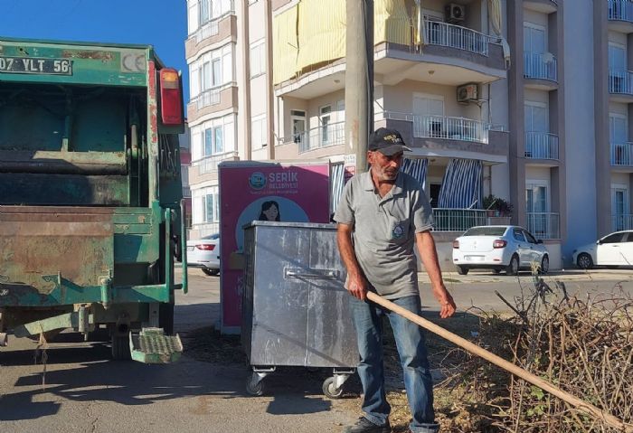
<path id="1" fill-rule="evenodd" d="M 0 0 L 3 36 L 154 45 L 167 66 L 183 71 L 189 99 L 185 0 Z"/>

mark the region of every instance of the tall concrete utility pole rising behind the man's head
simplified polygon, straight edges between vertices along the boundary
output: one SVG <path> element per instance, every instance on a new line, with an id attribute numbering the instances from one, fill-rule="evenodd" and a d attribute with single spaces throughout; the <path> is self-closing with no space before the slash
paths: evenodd
<path id="1" fill-rule="evenodd" d="M 367 171 L 373 132 L 373 0 L 346 0 L 345 171 Z"/>

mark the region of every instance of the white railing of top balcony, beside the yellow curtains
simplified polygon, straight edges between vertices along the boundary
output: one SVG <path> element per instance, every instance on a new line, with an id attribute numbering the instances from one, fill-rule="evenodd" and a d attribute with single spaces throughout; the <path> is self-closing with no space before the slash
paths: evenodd
<path id="1" fill-rule="evenodd" d="M 425 20 L 424 30 L 426 42 L 430 45 L 457 48 L 458 50 L 476 52 L 484 56 L 488 55 L 490 42 L 496 42 L 497 40 L 497 38 L 468 29 L 468 27 L 440 23 L 438 21 Z"/>

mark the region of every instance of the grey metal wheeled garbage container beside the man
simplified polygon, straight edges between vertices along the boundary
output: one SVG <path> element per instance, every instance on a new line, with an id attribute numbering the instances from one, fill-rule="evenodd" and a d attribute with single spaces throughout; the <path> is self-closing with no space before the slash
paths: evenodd
<path id="1" fill-rule="evenodd" d="M 359 358 L 335 225 L 253 221 L 244 228 L 244 259 L 247 391 L 261 395 L 277 366 L 331 367 L 323 391 L 340 397 Z"/>

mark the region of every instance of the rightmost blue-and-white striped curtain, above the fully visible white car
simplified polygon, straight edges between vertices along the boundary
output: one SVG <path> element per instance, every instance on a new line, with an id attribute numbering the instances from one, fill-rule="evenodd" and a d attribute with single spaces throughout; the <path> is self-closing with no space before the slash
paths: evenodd
<path id="1" fill-rule="evenodd" d="M 483 165 L 474 159 L 451 159 L 439 189 L 439 208 L 481 209 Z"/>

